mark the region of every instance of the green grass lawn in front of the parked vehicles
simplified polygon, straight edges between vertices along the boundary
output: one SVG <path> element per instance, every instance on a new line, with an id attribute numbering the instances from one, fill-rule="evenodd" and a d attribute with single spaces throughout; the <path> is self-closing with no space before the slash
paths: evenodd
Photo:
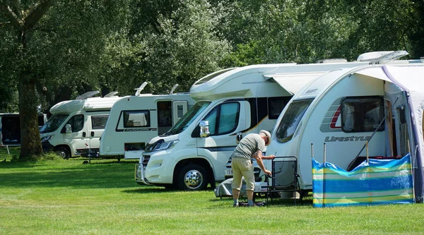
<path id="1" fill-rule="evenodd" d="M 139 186 L 135 161 L 16 163 L 3 154 L 0 234 L 424 234 L 423 204 L 314 208 L 306 198 L 233 208 L 212 188 Z"/>

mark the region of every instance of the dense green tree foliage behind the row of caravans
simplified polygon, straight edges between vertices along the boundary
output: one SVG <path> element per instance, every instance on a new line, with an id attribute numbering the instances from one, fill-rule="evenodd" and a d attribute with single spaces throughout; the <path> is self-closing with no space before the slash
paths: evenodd
<path id="1" fill-rule="evenodd" d="M 89 90 L 132 95 L 144 81 L 144 92 L 188 92 L 249 64 L 399 49 L 418 58 L 423 25 L 419 0 L 4 0 L 0 109 L 33 115 Z"/>

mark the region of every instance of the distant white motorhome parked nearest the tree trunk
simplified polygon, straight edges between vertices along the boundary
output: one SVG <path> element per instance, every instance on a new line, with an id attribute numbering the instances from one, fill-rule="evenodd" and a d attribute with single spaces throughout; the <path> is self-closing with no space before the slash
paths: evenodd
<path id="1" fill-rule="evenodd" d="M 40 129 L 43 150 L 69 157 L 93 157 L 99 150 L 99 139 L 105 130 L 112 105 L 121 97 L 116 92 L 105 97 L 93 97 L 99 92 L 87 92 L 76 98 L 54 104 L 53 114 Z"/>

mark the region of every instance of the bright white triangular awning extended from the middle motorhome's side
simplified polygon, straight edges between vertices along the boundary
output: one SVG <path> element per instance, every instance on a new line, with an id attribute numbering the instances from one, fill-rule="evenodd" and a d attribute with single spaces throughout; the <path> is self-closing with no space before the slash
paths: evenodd
<path id="1" fill-rule="evenodd" d="M 299 92 L 307 83 L 326 72 L 309 72 L 309 73 L 279 73 L 264 75 L 266 80 L 275 81 L 281 88 L 291 94 Z"/>

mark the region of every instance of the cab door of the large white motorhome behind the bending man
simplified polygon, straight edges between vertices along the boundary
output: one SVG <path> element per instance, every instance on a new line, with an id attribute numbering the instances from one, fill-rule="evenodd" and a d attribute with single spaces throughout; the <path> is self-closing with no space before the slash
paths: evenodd
<path id="1" fill-rule="evenodd" d="M 240 115 L 242 114 L 242 115 Z M 204 116 L 208 121 L 209 136 L 198 137 L 197 150 L 199 156 L 216 159 L 214 165 L 216 181 L 224 179 L 225 164 L 235 150 L 235 133 L 245 128 L 245 101 L 223 102 Z"/>

